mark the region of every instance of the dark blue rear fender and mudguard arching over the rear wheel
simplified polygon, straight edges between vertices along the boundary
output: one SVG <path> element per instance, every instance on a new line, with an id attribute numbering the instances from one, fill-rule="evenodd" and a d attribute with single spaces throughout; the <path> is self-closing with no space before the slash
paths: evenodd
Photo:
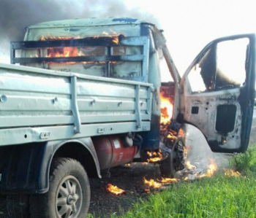
<path id="1" fill-rule="evenodd" d="M 100 176 L 99 161 L 91 138 L 69 141 L 45 141 L 0 147 L 0 192 L 45 193 L 49 190 L 50 163 L 56 151 L 67 143 L 84 147 L 94 160 Z"/>

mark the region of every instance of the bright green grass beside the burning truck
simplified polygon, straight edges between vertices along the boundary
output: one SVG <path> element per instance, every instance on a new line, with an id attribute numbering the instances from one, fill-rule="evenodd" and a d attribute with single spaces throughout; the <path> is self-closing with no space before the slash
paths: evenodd
<path id="1" fill-rule="evenodd" d="M 256 147 L 234 156 L 230 167 L 241 176 L 219 171 L 211 178 L 173 184 L 150 195 L 148 201 L 136 203 L 119 218 L 256 217 Z"/>

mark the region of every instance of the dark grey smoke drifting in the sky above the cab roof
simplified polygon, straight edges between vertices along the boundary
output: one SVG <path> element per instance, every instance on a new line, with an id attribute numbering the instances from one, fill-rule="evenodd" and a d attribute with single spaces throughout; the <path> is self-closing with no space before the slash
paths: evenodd
<path id="1" fill-rule="evenodd" d="M 86 17 L 135 17 L 157 24 L 154 15 L 129 9 L 122 0 L 0 0 L 0 56 L 10 55 L 10 42 L 22 41 L 27 26 Z"/>

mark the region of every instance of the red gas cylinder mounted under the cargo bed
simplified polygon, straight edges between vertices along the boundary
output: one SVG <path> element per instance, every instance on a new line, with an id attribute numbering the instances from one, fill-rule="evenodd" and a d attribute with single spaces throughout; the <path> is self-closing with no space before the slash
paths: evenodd
<path id="1" fill-rule="evenodd" d="M 120 136 L 93 137 L 94 147 L 99 159 L 100 169 L 129 163 L 135 157 L 138 147 L 124 147 Z"/>

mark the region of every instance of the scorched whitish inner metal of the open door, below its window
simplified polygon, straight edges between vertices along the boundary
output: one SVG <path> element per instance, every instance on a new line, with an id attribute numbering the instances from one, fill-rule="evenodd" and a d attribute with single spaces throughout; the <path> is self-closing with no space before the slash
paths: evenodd
<path id="1" fill-rule="evenodd" d="M 216 96 L 216 93 L 200 93 L 200 98 L 194 95 L 187 96 L 184 119 L 190 123 L 197 123 L 197 128 L 200 128 L 208 141 L 219 141 L 220 147 L 237 149 L 240 147 L 241 141 L 241 106 L 236 101 L 223 101 L 223 98 L 237 99 L 239 94 L 239 89 L 234 89 L 219 91 L 219 96 Z M 236 106 L 235 125 L 232 131 L 220 134 L 216 130 L 217 106 L 227 104 Z M 195 114 L 192 113 L 193 107 L 198 108 Z M 225 118 L 222 117 L 223 120 Z M 230 121 L 227 120 L 227 122 Z M 224 143 L 223 137 L 228 141 L 228 144 Z"/>

